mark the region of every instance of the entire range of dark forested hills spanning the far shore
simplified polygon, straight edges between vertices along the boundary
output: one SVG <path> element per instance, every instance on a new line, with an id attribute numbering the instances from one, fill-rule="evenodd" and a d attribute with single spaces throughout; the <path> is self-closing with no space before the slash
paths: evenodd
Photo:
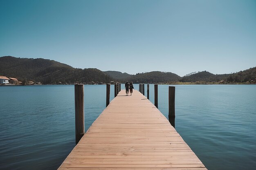
<path id="1" fill-rule="evenodd" d="M 129 75 L 119 71 L 100 71 L 97 68 L 73 68 L 67 64 L 46 60 L 43 58 L 16 58 L 11 56 L 0 57 L 0 76 L 14 77 L 20 81 L 34 81 L 43 84 L 61 83 L 89 83 L 118 81 L 124 83 L 171 83 L 177 82 L 220 82 L 244 83 L 255 82 L 256 67 L 233 74 L 214 75 L 208 71 L 191 73 L 184 77 L 171 72 L 152 71 Z"/>

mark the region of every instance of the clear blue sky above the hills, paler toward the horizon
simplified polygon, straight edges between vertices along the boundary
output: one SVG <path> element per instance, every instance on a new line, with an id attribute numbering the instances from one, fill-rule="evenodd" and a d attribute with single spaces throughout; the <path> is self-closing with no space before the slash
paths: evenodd
<path id="1" fill-rule="evenodd" d="M 256 0 L 0 0 L 0 56 L 129 74 L 256 66 Z"/>

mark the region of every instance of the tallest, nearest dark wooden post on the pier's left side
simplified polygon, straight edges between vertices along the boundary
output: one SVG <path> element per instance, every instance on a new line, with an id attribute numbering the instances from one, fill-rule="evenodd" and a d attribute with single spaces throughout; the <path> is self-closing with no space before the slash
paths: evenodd
<path id="1" fill-rule="evenodd" d="M 83 84 L 75 84 L 75 126 L 76 144 L 84 135 L 84 92 Z"/>

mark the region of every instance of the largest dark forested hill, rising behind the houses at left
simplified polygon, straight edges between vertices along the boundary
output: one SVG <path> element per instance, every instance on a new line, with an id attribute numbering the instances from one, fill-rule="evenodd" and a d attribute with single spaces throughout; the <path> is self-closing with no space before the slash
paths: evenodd
<path id="1" fill-rule="evenodd" d="M 0 57 L 0 75 L 43 84 L 61 82 L 110 82 L 112 78 L 96 68 L 79 69 L 43 58 Z"/>

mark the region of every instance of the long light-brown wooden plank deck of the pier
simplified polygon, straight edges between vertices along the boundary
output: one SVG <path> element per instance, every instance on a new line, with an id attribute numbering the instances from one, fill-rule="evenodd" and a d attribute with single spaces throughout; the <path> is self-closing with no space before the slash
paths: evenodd
<path id="1" fill-rule="evenodd" d="M 71 169 L 207 170 L 166 117 L 136 90 L 132 96 L 122 90 L 94 121 L 59 168 Z"/>

